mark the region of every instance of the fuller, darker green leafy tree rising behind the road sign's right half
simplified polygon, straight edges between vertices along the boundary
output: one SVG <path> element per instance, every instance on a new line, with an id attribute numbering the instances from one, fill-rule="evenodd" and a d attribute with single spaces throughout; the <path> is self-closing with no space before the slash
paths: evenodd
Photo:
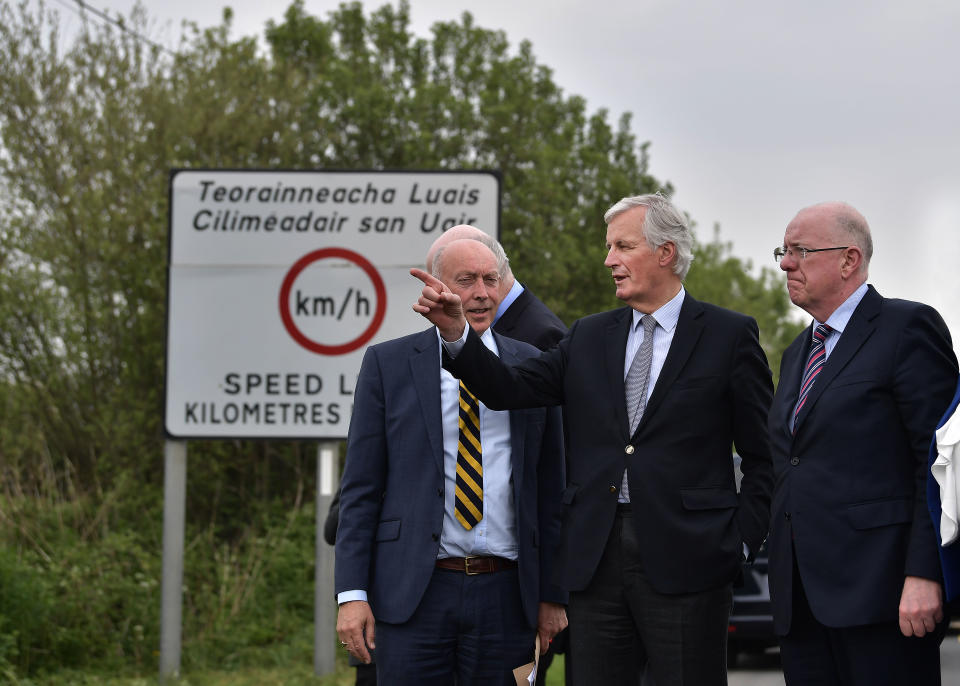
<path id="1" fill-rule="evenodd" d="M 670 191 L 647 173 L 630 116 L 612 127 L 605 110 L 589 114 L 529 42 L 512 52 L 502 31 L 469 13 L 435 24 L 430 41 L 409 23 L 406 2 L 369 18 L 344 4 L 324 22 L 297 1 L 268 25 L 275 68 L 320 113 L 296 163 L 498 169 L 502 241 L 525 282 L 567 321 L 608 305 L 603 210 L 624 195 Z"/>

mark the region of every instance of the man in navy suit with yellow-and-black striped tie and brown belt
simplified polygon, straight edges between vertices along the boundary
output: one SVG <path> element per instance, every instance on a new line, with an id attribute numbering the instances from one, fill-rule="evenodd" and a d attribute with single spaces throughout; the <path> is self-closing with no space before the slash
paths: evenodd
<path id="1" fill-rule="evenodd" d="M 511 362 L 532 346 L 489 331 L 501 274 L 477 241 L 446 246 L 434 271 L 484 345 Z M 559 412 L 480 406 L 482 504 L 460 519 L 459 383 L 431 328 L 371 346 L 355 391 L 336 542 L 337 632 L 351 654 L 377 649 L 392 684 L 513 684 L 512 670 L 566 624 L 550 577 L 559 539 Z M 465 410 L 464 410 L 465 411 Z M 366 643 L 366 645 L 365 645 Z"/>

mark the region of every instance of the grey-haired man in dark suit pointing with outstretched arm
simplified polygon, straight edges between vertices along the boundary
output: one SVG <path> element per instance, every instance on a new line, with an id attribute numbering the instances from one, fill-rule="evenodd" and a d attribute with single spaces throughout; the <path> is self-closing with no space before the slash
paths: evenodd
<path id="1" fill-rule="evenodd" d="M 648 663 L 658 686 L 726 684 L 732 582 L 769 522 L 770 369 L 753 319 L 684 290 L 693 239 L 668 200 L 624 198 L 605 219 L 604 264 L 628 307 L 578 320 L 538 357 L 487 355 L 449 284 L 419 270 L 414 309 L 456 341 L 444 365 L 488 407 L 564 406 L 575 682 L 636 684 Z M 627 383 L 637 359 L 645 391 Z"/>

